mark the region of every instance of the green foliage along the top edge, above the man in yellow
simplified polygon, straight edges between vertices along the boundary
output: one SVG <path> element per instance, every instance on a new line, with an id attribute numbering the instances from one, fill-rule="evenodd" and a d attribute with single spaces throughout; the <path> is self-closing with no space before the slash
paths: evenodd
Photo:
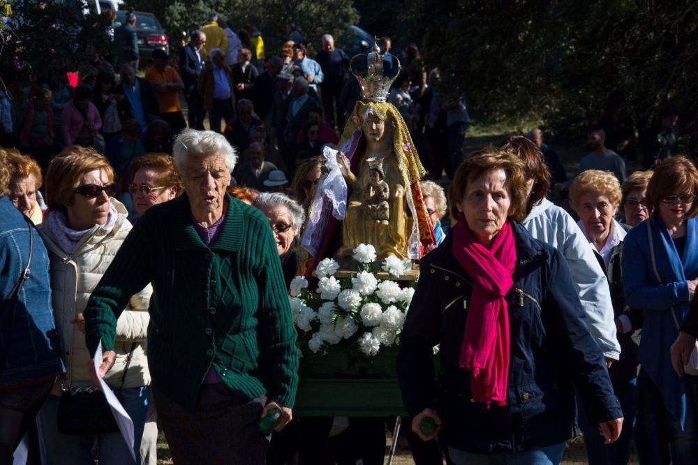
<path id="1" fill-rule="evenodd" d="M 155 13 L 173 38 L 206 24 L 210 13 L 218 13 L 235 30 L 252 24 L 262 31 L 267 54 L 288 39 L 289 23 L 297 24 L 310 48 L 318 50 L 322 34 L 343 36 L 359 20 L 351 0 L 131 0 L 126 6 Z"/>

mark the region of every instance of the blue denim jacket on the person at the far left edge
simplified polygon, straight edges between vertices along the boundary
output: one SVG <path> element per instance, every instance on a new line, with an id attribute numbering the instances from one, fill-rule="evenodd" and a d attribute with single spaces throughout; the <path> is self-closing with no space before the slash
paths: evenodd
<path id="1" fill-rule="evenodd" d="M 32 228 L 29 280 L 20 291 L 15 318 L 6 302 L 29 260 L 29 225 L 7 195 L 0 197 L 0 354 L 8 350 L 0 388 L 52 378 L 63 371 L 53 319 L 48 253 Z M 8 344 L 9 342 L 9 344 Z M 0 357 L 1 359 L 2 357 Z"/>

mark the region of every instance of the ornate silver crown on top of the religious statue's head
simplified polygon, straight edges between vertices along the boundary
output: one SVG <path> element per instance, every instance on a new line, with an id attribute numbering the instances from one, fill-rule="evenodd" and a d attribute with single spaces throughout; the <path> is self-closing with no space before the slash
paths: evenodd
<path id="1" fill-rule="evenodd" d="M 390 66 L 387 70 L 383 69 L 385 55 L 380 54 L 380 47 L 373 43 L 371 52 L 368 54 L 359 54 L 353 57 L 349 64 L 349 69 L 359 81 L 361 86 L 362 100 L 368 102 L 385 102 L 387 101 L 390 92 L 390 86 L 400 73 L 400 60 L 394 55 L 389 55 L 390 60 L 387 61 Z M 364 65 L 365 59 L 365 65 Z M 393 76 L 383 75 L 384 71 L 392 73 L 392 67 L 395 66 L 396 72 Z"/>

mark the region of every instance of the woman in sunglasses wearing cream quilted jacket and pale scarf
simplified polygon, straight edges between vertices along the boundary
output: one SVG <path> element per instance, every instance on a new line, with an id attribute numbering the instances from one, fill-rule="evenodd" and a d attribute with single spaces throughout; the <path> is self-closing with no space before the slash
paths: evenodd
<path id="1" fill-rule="evenodd" d="M 45 189 L 48 213 L 40 232 L 49 251 L 54 317 L 66 364 L 65 376 L 54 386 L 40 413 L 49 463 L 94 463 L 96 438 L 100 464 L 140 464 L 140 441 L 150 397 L 145 355 L 150 286 L 130 296 L 122 307 L 124 311 L 114 325 L 116 361 L 105 378 L 133 420 L 138 461 L 133 462 L 118 432 L 66 435 L 57 427 L 61 385 L 68 389 L 92 383 L 82 312 L 131 231 L 124 205 L 112 197 L 116 189 L 114 172 L 107 158 L 93 149 L 68 147 L 51 161 Z"/>

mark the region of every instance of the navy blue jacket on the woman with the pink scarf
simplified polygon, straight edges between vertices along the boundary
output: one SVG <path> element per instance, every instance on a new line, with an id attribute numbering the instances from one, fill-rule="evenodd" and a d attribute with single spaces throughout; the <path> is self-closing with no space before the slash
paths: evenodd
<path id="1" fill-rule="evenodd" d="M 623 416 L 565 258 L 519 223 L 514 235 L 507 406 L 488 409 L 471 400 L 470 373 L 458 367 L 473 282 L 453 256 L 452 232 L 422 260 L 401 333 L 397 369 L 408 413 L 435 408 L 443 422 L 440 437 L 471 453 L 521 452 L 566 441 L 573 436 L 575 389 L 591 422 Z"/>

